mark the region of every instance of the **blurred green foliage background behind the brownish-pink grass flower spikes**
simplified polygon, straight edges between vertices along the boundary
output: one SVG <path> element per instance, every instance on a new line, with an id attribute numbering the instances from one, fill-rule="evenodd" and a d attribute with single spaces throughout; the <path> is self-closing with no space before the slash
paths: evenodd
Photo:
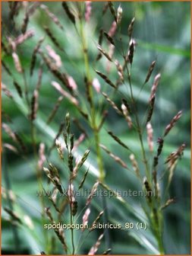
<path id="1" fill-rule="evenodd" d="M 20 56 L 20 61 L 27 74 L 27 83 L 30 88 L 30 97 L 33 94 L 33 90 L 36 86 L 39 72 L 39 65 L 41 59 L 38 57 L 36 68 L 33 77 L 30 77 L 30 60 L 33 53 L 33 49 L 36 46 L 39 37 L 45 34 L 43 26 L 46 25 L 50 30 L 54 31 L 54 35 L 65 50 L 62 53 L 56 50 L 61 56 L 62 70 L 68 72 L 78 85 L 78 91 L 80 93 L 80 101 L 85 110 L 88 110 L 85 104 L 85 88 L 83 83 L 83 75 L 85 72 L 83 55 L 80 46 L 80 39 L 74 29 L 74 26 L 66 17 L 65 11 L 61 8 L 61 2 L 45 2 L 44 5 L 49 7 L 63 24 L 64 32 L 61 32 L 59 28 L 52 22 L 47 15 L 36 10 L 33 17 L 30 18 L 28 29 L 35 31 L 35 36 L 25 43 L 20 45 L 17 49 L 17 53 Z M 99 36 L 99 29 L 103 27 L 104 30 L 109 31 L 113 18 L 112 14 L 107 11 L 102 18 L 102 7 L 104 2 L 92 3 L 92 15 L 90 23 L 86 24 L 87 40 L 88 40 L 88 53 L 90 57 L 91 74 L 94 77 L 93 61 L 97 54 L 97 41 Z M 121 51 L 127 49 L 127 26 L 133 18 L 136 17 L 134 25 L 134 39 L 137 42 L 136 51 L 134 54 L 134 65 L 131 71 L 133 79 L 134 95 L 139 94 L 140 87 L 146 77 L 146 72 L 150 66 L 150 63 L 156 59 L 157 65 L 153 77 L 150 82 L 140 92 L 140 96 L 137 98 L 139 104 L 140 119 L 146 112 L 150 89 L 153 82 L 154 75 L 161 72 L 162 79 L 159 84 L 156 108 L 153 115 L 153 130 L 154 130 L 154 142 L 162 134 L 165 126 L 174 117 L 178 110 L 183 110 L 183 116 L 177 123 L 175 128 L 169 134 L 165 140 L 165 148 L 161 158 L 160 174 L 165 169 L 165 158 L 171 152 L 178 149 L 181 143 L 185 142 L 187 145 L 184 151 L 184 156 L 181 161 L 178 162 L 178 166 L 175 170 L 172 186 L 170 187 L 170 197 L 176 198 L 176 203 L 169 206 L 165 210 L 165 225 L 164 225 L 164 243 L 165 252 L 167 254 L 190 254 L 190 2 L 114 2 L 115 8 L 121 4 L 123 9 L 123 18 L 121 22 L 121 30 L 118 31 L 118 37 L 116 39 L 115 58 L 122 61 Z M 29 4 L 31 5 L 31 4 Z M 76 5 L 75 2 L 70 2 L 69 5 Z M 21 9 L 17 18 L 14 28 L 9 19 L 9 8 L 7 2 L 2 2 L 2 40 L 6 43 L 7 37 L 15 38 L 20 35 L 20 24 L 24 18 L 24 8 Z M 119 38 L 121 37 L 121 42 Z M 55 46 L 49 37 L 43 42 L 43 45 L 51 45 L 54 49 Z M 105 44 L 104 44 L 105 45 Z M 14 62 L 11 56 L 7 56 L 2 53 L 2 59 L 7 64 L 17 82 L 24 88 L 24 82 L 21 76 L 14 69 Z M 105 69 L 105 59 L 96 64 L 96 69 Z M 97 77 L 98 78 L 98 77 Z M 110 74 L 111 79 L 117 78 L 116 69 L 112 68 Z M 55 78 L 48 71 L 46 66 L 43 66 L 42 85 L 39 95 L 39 110 L 37 113 L 36 125 L 36 139 L 39 145 L 40 142 L 46 144 L 46 152 L 50 146 L 52 146 L 55 134 L 58 132 L 58 128 L 62 120 L 64 120 L 65 114 L 69 112 L 71 117 L 77 117 L 82 123 L 82 117 L 77 110 L 67 101 L 62 101 L 61 107 L 59 107 L 58 113 L 55 119 L 49 126 L 46 126 L 46 120 L 49 116 L 52 108 L 59 96 L 58 91 L 52 87 L 51 82 L 55 81 Z M 100 80 L 102 91 L 109 91 L 108 85 L 105 85 Z M 36 197 L 36 190 L 38 190 L 38 184 L 36 181 L 36 174 L 34 171 L 34 163 L 36 159 L 33 156 L 33 150 L 30 139 L 30 123 L 27 118 L 28 110 L 25 101 L 20 100 L 15 91 L 12 79 L 7 75 L 5 69 L 2 68 L 2 82 L 7 85 L 8 89 L 14 95 L 14 101 L 7 98 L 2 92 L 2 122 L 8 123 L 9 126 L 17 133 L 20 134 L 27 146 L 27 155 L 23 158 L 20 155 L 15 155 L 8 149 L 3 150 L 2 159 L 2 187 L 8 187 L 14 191 L 16 195 L 16 203 L 14 203 L 14 210 L 20 214 L 20 216 L 30 216 L 33 221 L 34 229 L 27 229 L 23 227 L 21 229 L 12 230 L 11 224 L 6 220 L 7 215 L 2 211 L 2 254 L 39 254 L 39 251 L 46 251 L 46 244 L 43 240 L 42 222 L 40 219 L 40 204 L 39 198 Z M 113 100 L 118 106 L 121 106 L 122 94 L 126 97 L 129 94 L 127 85 L 121 85 L 119 93 L 113 94 Z M 95 93 L 96 94 L 96 93 Z M 102 98 L 102 95 L 95 95 L 95 104 L 98 110 L 107 106 Z M 8 120 L 10 117 L 11 121 Z M 99 111 L 98 111 L 99 118 Z M 93 138 L 90 129 L 86 126 L 87 133 L 90 135 L 90 139 L 87 139 L 80 145 L 80 152 L 83 153 L 90 147 L 91 154 L 89 157 L 90 164 L 97 169 L 96 153 L 93 147 Z M 77 127 L 72 127 L 76 138 L 80 135 Z M 112 130 L 117 134 L 124 142 L 127 143 L 140 155 L 140 146 L 137 139 L 137 135 L 134 131 L 127 129 L 127 123 L 122 117 L 119 117 L 112 107 L 109 107 L 109 116 L 106 119 L 106 123 L 101 131 L 101 142 L 115 154 L 121 157 L 127 165 L 131 165 L 127 152 L 121 149 L 106 130 Z M 144 133 L 144 136 L 146 134 Z M 11 142 L 8 135 L 2 132 L 2 142 Z M 147 143 L 145 148 L 148 150 Z M 155 145 L 156 150 L 156 145 Z M 149 153 L 150 161 L 152 157 Z M 105 166 L 105 182 L 113 189 L 127 190 L 129 188 L 133 190 L 140 189 L 137 178 L 135 178 L 128 171 L 119 167 L 118 164 L 109 158 L 105 152 L 102 152 L 102 158 Z M 59 162 L 56 149 L 52 151 L 50 161 L 54 162 L 59 168 L 63 177 L 64 184 L 67 185 L 67 174 L 65 168 Z M 140 163 L 141 171 L 142 163 Z M 90 172 L 87 177 L 87 187 L 91 187 L 96 180 L 96 174 Z M 83 171 L 80 173 L 80 178 L 83 176 Z M 160 175 L 161 176 L 161 175 Z M 43 183 L 47 187 L 46 179 Z M 162 190 L 165 189 L 165 185 L 162 182 Z M 125 198 L 127 205 L 134 206 L 137 213 L 144 216 L 141 204 L 142 198 L 130 197 Z M 80 202 L 83 206 L 84 200 Z M 134 221 L 134 215 L 127 205 L 124 206 L 121 202 L 115 199 L 106 198 L 107 209 L 109 219 L 112 222 L 128 222 Z M 8 206 L 8 201 L 3 198 L 2 206 Z M 102 199 L 94 199 L 91 206 L 93 216 L 97 216 L 99 210 L 102 210 Z M 13 231 L 13 232 L 12 232 Z M 15 234 L 16 232 L 16 234 Z M 81 254 L 87 254 L 90 247 L 96 242 L 99 236 L 99 230 L 93 232 L 90 238 L 87 239 L 83 245 Z M 18 242 L 15 249 L 15 235 L 18 237 Z M 107 236 L 107 235 L 106 235 Z M 67 237 L 70 235 L 67 234 Z M 69 239 L 69 238 L 68 238 Z M 76 235 L 77 239 L 77 235 Z M 109 231 L 109 241 L 112 247 L 112 254 L 156 254 L 156 242 L 150 230 L 146 232 L 127 232 L 119 230 Z M 108 241 L 106 241 L 107 243 Z M 105 243 L 103 242 L 99 248 L 99 252 L 105 250 Z M 55 253 L 61 254 L 61 248 L 58 246 Z"/>

